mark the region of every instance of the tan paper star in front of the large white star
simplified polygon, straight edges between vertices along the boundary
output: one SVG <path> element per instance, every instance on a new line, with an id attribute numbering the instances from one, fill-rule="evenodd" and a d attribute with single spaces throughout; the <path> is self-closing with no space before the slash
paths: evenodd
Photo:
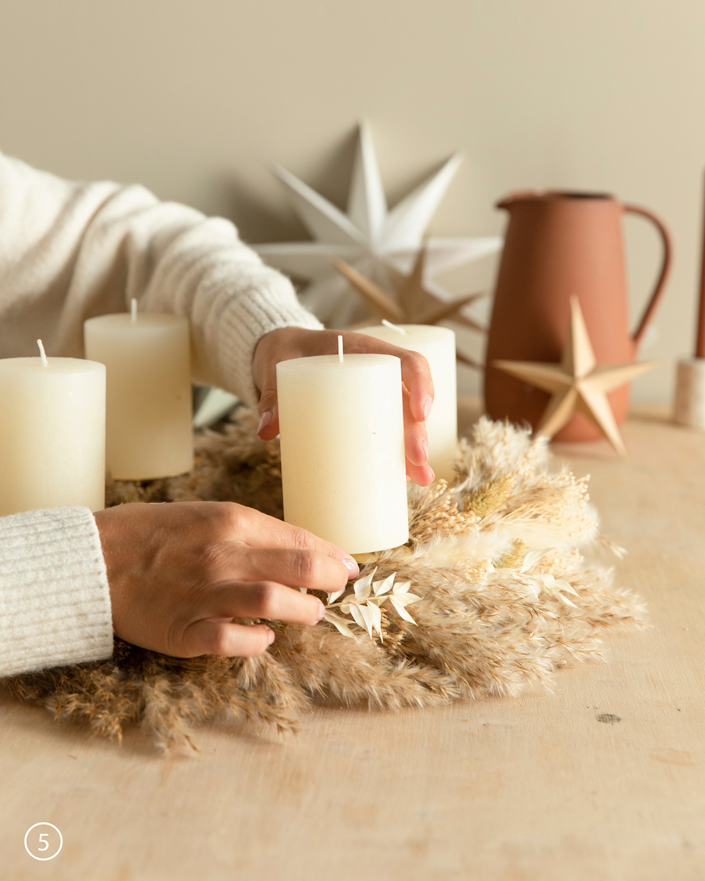
<path id="1" fill-rule="evenodd" d="M 379 285 L 375 285 L 374 281 L 362 275 L 358 270 L 353 269 L 344 260 L 334 257 L 333 265 L 341 275 L 347 278 L 355 290 L 360 293 L 370 312 L 378 318 L 383 318 L 388 322 L 395 322 L 397 324 L 436 324 L 443 321 L 443 319 L 449 319 L 472 329 L 484 331 L 486 329 L 484 326 L 463 315 L 460 309 L 474 300 L 484 297 L 486 295 L 485 292 L 470 293 L 449 303 L 439 302 L 424 285 L 426 255 L 427 248 L 424 246 L 419 250 L 411 275 L 405 276 L 401 272 L 391 270 L 390 279 L 397 292 L 397 300 L 394 300 L 389 293 L 383 291 Z M 360 322 L 360 326 L 366 326 L 368 323 L 368 320 Z M 463 361 L 464 364 L 480 369 L 482 367 L 476 361 L 466 358 L 460 352 L 456 353 L 456 357 L 459 361 Z"/>

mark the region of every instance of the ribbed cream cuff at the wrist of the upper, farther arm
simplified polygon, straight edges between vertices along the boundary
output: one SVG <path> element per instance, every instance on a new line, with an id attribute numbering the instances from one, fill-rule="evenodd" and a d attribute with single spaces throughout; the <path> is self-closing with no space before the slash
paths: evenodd
<path id="1" fill-rule="evenodd" d="M 287 327 L 323 329 L 315 315 L 301 306 L 289 279 L 270 273 L 265 284 L 235 297 L 219 318 L 219 369 L 249 404 L 257 403 L 252 358 L 264 334 Z"/>

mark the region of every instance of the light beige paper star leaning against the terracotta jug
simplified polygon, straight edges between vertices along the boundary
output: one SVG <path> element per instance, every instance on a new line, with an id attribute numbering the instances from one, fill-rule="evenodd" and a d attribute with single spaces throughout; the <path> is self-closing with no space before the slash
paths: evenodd
<path id="1" fill-rule="evenodd" d="M 607 392 L 626 385 L 651 370 L 657 362 L 597 366 L 583 310 L 577 297 L 571 297 L 568 340 L 560 364 L 502 360 L 493 364 L 538 389 L 551 392 L 551 400 L 536 429 L 537 436 L 552 437 L 575 412 L 581 412 L 605 434 L 620 455 L 627 455 Z"/>

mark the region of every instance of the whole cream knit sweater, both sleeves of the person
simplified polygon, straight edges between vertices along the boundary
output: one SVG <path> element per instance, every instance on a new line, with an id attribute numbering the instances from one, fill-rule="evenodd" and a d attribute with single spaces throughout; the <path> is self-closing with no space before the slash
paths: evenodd
<path id="1" fill-rule="evenodd" d="M 49 355 L 81 358 L 85 319 L 124 312 L 133 297 L 140 311 L 186 315 L 194 379 L 249 402 L 259 338 L 321 327 L 228 220 L 139 186 L 63 181 L 0 153 L 0 358 L 35 355 L 37 337 Z M 112 650 L 90 511 L 0 517 L 0 676 Z"/>

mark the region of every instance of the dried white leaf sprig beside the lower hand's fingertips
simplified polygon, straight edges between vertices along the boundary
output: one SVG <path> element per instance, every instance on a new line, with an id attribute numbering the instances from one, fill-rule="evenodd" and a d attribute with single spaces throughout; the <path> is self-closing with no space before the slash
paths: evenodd
<path id="1" fill-rule="evenodd" d="M 354 638 L 355 634 L 350 629 L 350 626 L 357 624 L 363 630 L 367 630 L 370 639 L 372 638 L 372 632 L 375 631 L 379 633 L 380 640 L 383 641 L 382 612 L 380 608 L 387 600 L 394 606 L 400 618 L 404 618 L 404 621 L 408 621 L 410 624 L 416 624 L 416 621 L 406 611 L 407 605 L 416 603 L 421 598 L 409 593 L 412 582 L 397 581 L 395 584 L 396 572 L 388 575 L 382 581 L 373 581 L 376 571 L 377 567 L 375 566 L 372 572 L 363 575 L 357 581 L 353 581 L 354 593 L 344 596 L 339 603 L 335 601 L 345 593 L 346 588 L 338 590 L 338 593 L 331 594 L 330 596 L 330 604 L 326 607 L 323 620 L 338 627 L 338 630 L 344 636 Z M 344 615 L 352 615 L 353 620 L 350 618 L 340 618 L 339 615 L 330 611 L 331 609 L 339 609 Z"/>

